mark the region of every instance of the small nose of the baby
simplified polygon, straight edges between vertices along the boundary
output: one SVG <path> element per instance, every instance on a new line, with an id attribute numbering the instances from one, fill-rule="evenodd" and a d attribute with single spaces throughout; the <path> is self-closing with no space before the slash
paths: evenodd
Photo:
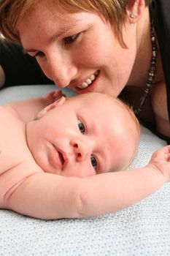
<path id="1" fill-rule="evenodd" d="M 85 160 L 90 151 L 87 143 L 82 140 L 71 140 L 71 146 L 73 147 L 77 162 Z"/>

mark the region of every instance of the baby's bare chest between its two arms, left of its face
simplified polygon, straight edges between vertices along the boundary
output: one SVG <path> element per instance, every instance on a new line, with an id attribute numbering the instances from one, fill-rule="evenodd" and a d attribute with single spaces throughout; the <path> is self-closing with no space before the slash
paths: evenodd
<path id="1" fill-rule="evenodd" d="M 0 208 L 4 197 L 26 178 L 43 170 L 36 164 L 26 141 L 26 124 L 0 106 Z"/>

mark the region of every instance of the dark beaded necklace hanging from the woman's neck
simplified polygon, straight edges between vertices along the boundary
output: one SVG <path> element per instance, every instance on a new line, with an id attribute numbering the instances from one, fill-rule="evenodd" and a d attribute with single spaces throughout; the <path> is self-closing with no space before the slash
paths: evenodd
<path id="1" fill-rule="evenodd" d="M 148 70 L 147 83 L 144 89 L 144 94 L 139 100 L 139 107 L 134 110 L 134 113 L 138 118 L 140 117 L 140 113 L 144 108 L 146 99 L 150 94 L 150 89 L 152 88 L 153 80 L 156 75 L 157 45 L 156 45 L 156 37 L 155 37 L 155 29 L 153 26 L 153 20 L 150 23 L 150 39 L 152 42 L 152 58 L 150 60 L 150 69 Z"/>

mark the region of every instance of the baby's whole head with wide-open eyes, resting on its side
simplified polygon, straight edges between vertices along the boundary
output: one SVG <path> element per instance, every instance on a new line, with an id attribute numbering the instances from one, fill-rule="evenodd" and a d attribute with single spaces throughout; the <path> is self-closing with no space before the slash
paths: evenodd
<path id="1" fill-rule="evenodd" d="M 139 123 L 119 99 L 89 93 L 48 106 L 28 124 L 28 146 L 43 170 L 85 177 L 123 170 L 139 145 Z"/>

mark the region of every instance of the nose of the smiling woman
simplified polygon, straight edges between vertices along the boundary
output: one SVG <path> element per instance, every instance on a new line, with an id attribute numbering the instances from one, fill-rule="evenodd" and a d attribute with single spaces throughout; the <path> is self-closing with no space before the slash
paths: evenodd
<path id="1" fill-rule="evenodd" d="M 48 60 L 48 69 L 50 79 L 60 88 L 69 86 L 69 83 L 77 75 L 77 67 L 68 56 L 53 56 Z"/>

